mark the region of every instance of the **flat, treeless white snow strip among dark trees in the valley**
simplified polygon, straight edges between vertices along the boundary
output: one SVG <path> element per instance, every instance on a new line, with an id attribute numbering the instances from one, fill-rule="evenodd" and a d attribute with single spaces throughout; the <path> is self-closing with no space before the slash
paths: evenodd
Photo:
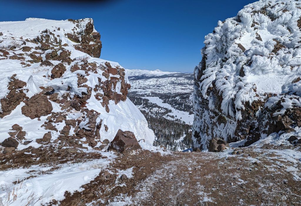
<path id="1" fill-rule="evenodd" d="M 163 103 L 163 100 L 160 99 L 159 97 L 141 97 L 141 98 L 148 99 L 160 107 L 165 107 L 165 108 L 170 109 L 172 112 L 168 113 L 169 115 L 177 116 L 177 117 L 175 117 L 176 119 L 182 120 L 186 124 L 191 125 L 193 123 L 193 117 L 194 117 L 193 114 L 189 114 L 189 112 L 177 110 L 177 109 L 173 108 L 171 105 L 169 105 L 168 103 Z M 172 117 L 166 116 L 165 118 L 174 120 L 174 119 L 172 119 Z"/>

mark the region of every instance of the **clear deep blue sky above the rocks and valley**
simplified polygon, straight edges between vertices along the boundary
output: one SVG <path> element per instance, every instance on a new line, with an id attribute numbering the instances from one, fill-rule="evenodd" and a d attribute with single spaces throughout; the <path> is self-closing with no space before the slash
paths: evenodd
<path id="1" fill-rule="evenodd" d="M 47 2 L 47 3 L 46 3 Z M 192 72 L 218 20 L 255 0 L 2 1 L 0 21 L 94 19 L 101 59 L 129 69 Z"/>

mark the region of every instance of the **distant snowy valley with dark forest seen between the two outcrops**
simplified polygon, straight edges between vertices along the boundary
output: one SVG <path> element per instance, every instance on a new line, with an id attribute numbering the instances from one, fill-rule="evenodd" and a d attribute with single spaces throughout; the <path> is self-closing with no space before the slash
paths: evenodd
<path id="1" fill-rule="evenodd" d="M 182 151 L 191 148 L 193 74 L 126 69 L 129 99 L 154 131 L 155 146 Z"/>

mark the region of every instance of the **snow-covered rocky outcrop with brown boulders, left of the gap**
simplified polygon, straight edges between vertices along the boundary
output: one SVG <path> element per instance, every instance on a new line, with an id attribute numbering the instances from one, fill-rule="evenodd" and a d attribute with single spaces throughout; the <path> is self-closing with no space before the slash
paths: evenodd
<path id="1" fill-rule="evenodd" d="M 92 19 L 0 22 L 0 32 L 0 142 L 11 136 L 23 149 L 76 139 L 98 147 L 121 129 L 153 144 L 154 132 L 126 97 L 125 69 L 99 59 Z"/>

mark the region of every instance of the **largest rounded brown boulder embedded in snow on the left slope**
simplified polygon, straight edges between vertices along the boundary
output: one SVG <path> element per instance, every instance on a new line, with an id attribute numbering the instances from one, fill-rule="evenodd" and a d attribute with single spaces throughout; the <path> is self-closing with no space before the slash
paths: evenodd
<path id="1" fill-rule="evenodd" d="M 22 114 L 30 119 L 51 114 L 52 105 L 45 95 L 33 95 L 21 108 Z"/>

